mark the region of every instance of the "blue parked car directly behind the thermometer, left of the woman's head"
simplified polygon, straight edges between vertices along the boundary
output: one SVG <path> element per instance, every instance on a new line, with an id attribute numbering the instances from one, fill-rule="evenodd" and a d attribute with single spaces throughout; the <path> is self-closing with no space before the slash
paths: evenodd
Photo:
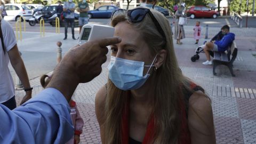
<path id="1" fill-rule="evenodd" d="M 118 10 L 119 7 L 113 5 L 103 5 L 98 9 L 88 11 L 89 18 L 110 18 L 114 10 Z"/>

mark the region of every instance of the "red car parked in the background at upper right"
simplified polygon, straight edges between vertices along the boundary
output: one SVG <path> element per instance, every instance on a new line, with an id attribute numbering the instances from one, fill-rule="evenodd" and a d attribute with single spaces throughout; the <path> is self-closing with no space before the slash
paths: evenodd
<path id="1" fill-rule="evenodd" d="M 194 19 L 195 17 L 215 19 L 219 15 L 219 12 L 212 11 L 206 6 L 189 6 L 186 11 L 186 14 L 191 19 Z"/>

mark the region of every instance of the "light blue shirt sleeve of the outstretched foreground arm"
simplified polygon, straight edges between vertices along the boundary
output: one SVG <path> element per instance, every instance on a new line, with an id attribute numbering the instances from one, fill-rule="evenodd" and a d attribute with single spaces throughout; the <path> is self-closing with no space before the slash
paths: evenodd
<path id="1" fill-rule="evenodd" d="M 47 88 L 13 110 L 0 104 L 0 143 L 65 143 L 74 135 L 70 107 Z"/>

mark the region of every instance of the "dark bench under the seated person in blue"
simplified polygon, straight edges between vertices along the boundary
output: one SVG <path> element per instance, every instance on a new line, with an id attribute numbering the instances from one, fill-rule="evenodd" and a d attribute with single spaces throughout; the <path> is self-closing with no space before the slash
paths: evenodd
<path id="1" fill-rule="evenodd" d="M 215 68 L 218 65 L 226 65 L 232 76 L 235 76 L 233 73 L 233 62 L 236 59 L 237 47 L 236 43 L 233 41 L 231 46 L 228 47 L 225 52 L 215 52 L 213 57 L 213 75 L 216 75 Z"/>

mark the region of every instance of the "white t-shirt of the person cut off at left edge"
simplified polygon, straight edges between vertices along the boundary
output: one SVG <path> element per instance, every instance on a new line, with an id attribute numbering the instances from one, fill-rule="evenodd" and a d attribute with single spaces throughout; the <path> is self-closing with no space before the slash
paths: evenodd
<path id="1" fill-rule="evenodd" d="M 12 75 L 8 68 L 8 51 L 17 43 L 12 26 L 5 20 L 1 20 L 1 28 L 4 37 L 5 54 L 0 40 L 0 103 L 3 103 L 14 96 L 14 84 Z"/>

